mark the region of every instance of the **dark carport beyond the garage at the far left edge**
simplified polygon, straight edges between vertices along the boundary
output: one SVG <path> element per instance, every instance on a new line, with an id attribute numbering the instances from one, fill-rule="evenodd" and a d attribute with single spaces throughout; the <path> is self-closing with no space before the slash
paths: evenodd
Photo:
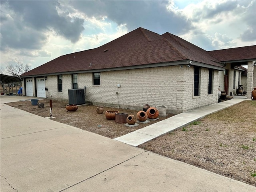
<path id="1" fill-rule="evenodd" d="M 21 78 L 0 74 L 1 79 L 1 95 L 17 95 L 22 94 L 20 88 L 22 87 Z"/>

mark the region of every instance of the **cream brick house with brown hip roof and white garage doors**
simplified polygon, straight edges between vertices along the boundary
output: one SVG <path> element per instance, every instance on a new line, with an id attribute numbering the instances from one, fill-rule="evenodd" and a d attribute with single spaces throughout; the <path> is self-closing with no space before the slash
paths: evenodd
<path id="1" fill-rule="evenodd" d="M 178 114 L 218 102 L 226 63 L 212 55 L 218 53 L 168 32 L 138 28 L 98 48 L 60 56 L 22 78 L 27 96 L 69 100 L 69 89 L 86 87 L 85 100 L 94 105 L 166 105 Z"/>

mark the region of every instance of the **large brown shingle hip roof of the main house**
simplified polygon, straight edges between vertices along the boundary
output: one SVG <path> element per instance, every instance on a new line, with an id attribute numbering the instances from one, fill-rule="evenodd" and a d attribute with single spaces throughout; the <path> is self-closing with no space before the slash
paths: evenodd
<path id="1" fill-rule="evenodd" d="M 188 59 L 222 67 L 205 50 L 182 38 L 169 33 L 161 36 L 138 28 L 98 48 L 60 56 L 22 76 L 143 66 Z"/>

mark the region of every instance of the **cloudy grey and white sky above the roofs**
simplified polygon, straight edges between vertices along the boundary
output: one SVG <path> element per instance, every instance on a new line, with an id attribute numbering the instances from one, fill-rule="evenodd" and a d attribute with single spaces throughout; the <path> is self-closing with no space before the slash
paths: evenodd
<path id="1" fill-rule="evenodd" d="M 256 0 L 0 1 L 1 67 L 36 68 L 138 27 L 217 50 L 256 44 Z"/>

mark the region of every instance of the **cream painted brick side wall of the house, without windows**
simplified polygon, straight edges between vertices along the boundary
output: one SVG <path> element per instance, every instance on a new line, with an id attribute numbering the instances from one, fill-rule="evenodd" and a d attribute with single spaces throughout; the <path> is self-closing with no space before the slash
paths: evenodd
<path id="1" fill-rule="evenodd" d="M 216 103 L 218 71 L 214 71 L 213 94 L 208 95 L 208 69 L 201 68 L 200 96 L 193 97 L 194 68 L 166 66 L 101 72 L 101 85 L 93 86 L 92 73 L 78 74 L 78 88 L 86 86 L 86 102 L 142 110 L 144 104 L 166 105 L 169 113 L 180 113 Z M 120 89 L 117 87 L 120 84 Z M 57 92 L 57 76 L 46 80 L 49 96 L 68 100 L 72 75 L 62 75 L 63 92 Z M 120 96 L 120 98 L 119 98 Z"/>

